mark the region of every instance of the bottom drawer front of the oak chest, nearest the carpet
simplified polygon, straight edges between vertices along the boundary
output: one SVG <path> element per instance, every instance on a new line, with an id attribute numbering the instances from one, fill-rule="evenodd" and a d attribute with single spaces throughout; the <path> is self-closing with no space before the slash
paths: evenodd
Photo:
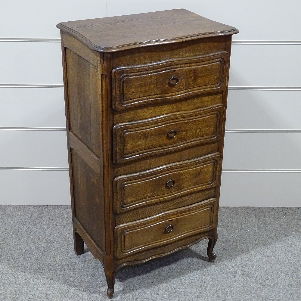
<path id="1" fill-rule="evenodd" d="M 196 203 L 116 226 L 115 256 L 122 259 L 161 247 L 216 226 L 217 199 Z"/>

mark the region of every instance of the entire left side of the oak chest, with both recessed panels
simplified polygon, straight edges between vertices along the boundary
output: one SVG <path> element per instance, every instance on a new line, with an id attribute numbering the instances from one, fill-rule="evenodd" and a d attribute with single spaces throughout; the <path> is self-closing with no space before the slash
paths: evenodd
<path id="1" fill-rule="evenodd" d="M 61 40 L 74 249 L 82 254 L 84 239 L 104 262 L 101 57 L 66 34 Z"/>

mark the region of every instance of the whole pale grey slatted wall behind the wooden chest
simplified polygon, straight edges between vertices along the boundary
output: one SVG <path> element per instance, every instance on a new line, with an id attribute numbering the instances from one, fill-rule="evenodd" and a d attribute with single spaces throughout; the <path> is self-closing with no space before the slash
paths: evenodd
<path id="1" fill-rule="evenodd" d="M 296 0 L 285 5 L 272 0 L 5 2 L 0 204 L 70 204 L 55 25 L 173 8 L 240 30 L 232 45 L 221 205 L 301 205 L 301 5 Z"/>

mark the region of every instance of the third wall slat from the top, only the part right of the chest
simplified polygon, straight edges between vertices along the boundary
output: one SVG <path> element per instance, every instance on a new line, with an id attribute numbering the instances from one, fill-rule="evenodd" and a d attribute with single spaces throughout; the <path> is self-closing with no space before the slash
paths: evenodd
<path id="1" fill-rule="evenodd" d="M 226 129 L 300 129 L 301 91 L 229 90 Z"/>

